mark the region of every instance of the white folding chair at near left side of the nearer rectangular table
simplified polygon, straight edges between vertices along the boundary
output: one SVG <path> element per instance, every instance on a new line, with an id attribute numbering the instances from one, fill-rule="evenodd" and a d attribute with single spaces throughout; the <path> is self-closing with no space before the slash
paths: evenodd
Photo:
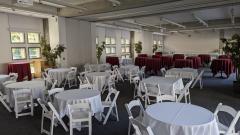
<path id="1" fill-rule="evenodd" d="M 159 84 L 154 85 L 144 83 L 143 85 L 145 89 L 145 107 L 147 107 L 151 102 L 157 102 L 157 98 L 161 96 L 161 90 Z M 150 100 L 150 97 L 153 97 L 156 100 Z"/>

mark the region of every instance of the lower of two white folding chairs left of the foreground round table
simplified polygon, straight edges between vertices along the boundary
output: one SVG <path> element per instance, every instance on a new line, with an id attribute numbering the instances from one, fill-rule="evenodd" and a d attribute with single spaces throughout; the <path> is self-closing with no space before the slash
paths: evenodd
<path id="1" fill-rule="evenodd" d="M 129 117 L 129 121 L 131 121 L 135 129 L 135 135 L 154 135 L 149 126 L 145 126 L 143 123 L 134 119 L 133 117 Z"/>

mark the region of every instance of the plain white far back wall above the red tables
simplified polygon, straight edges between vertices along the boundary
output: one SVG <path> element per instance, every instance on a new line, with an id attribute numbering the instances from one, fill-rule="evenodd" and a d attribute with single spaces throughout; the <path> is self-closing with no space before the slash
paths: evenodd
<path id="1" fill-rule="evenodd" d="M 187 34 L 191 35 L 188 36 Z M 174 33 L 165 38 L 164 46 L 175 53 L 212 53 L 219 49 L 219 31 Z"/>

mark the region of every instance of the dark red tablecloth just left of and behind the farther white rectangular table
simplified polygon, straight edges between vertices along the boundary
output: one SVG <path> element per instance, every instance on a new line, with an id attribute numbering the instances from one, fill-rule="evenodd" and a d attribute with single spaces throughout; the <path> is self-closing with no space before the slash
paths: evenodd
<path id="1" fill-rule="evenodd" d="M 162 60 L 161 58 L 147 58 L 146 59 L 146 71 L 153 70 L 155 73 L 160 71 L 162 68 Z"/>

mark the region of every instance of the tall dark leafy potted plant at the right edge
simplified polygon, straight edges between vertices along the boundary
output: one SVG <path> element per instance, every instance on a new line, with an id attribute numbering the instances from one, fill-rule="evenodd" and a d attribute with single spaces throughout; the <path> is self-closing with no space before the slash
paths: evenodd
<path id="1" fill-rule="evenodd" d="M 240 88 L 240 36 L 234 34 L 230 39 L 222 38 L 221 41 L 224 43 L 222 50 L 225 54 L 230 55 L 236 68 L 236 81 L 234 85 Z"/>

